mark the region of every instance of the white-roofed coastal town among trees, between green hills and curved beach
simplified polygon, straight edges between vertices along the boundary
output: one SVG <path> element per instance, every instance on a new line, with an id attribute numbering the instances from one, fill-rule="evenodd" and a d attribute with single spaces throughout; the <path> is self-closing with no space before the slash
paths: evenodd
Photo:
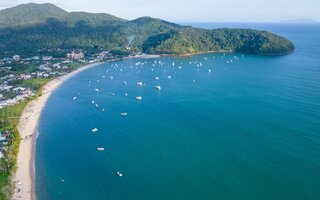
<path id="1" fill-rule="evenodd" d="M 34 92 L 30 88 L 15 87 L 13 83 L 17 80 L 62 76 L 69 72 L 68 64 L 70 63 L 95 63 L 105 59 L 112 59 L 110 51 L 103 51 L 87 58 L 85 58 L 82 51 L 66 53 L 66 57 L 60 59 L 54 58 L 53 56 L 22 58 L 20 55 L 14 55 L 11 58 L 2 58 L 0 59 L 0 109 L 5 106 L 14 105 L 19 101 L 34 95 Z M 34 70 L 30 73 L 2 73 L 11 72 L 12 67 L 17 63 L 20 65 L 32 65 L 36 67 L 34 67 Z M 1 76 L 1 74 L 4 75 Z"/>

